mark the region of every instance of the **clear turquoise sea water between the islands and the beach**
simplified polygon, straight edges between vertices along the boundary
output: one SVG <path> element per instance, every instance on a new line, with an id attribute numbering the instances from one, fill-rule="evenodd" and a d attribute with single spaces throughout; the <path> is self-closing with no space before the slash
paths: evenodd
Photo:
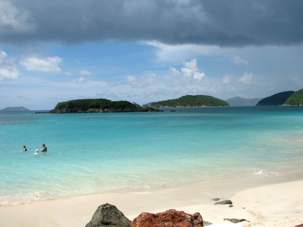
<path id="1" fill-rule="evenodd" d="M 0 113 L 0 206 L 278 177 L 301 166 L 302 106 L 169 110 Z M 34 155 L 42 143 L 47 153 Z"/>

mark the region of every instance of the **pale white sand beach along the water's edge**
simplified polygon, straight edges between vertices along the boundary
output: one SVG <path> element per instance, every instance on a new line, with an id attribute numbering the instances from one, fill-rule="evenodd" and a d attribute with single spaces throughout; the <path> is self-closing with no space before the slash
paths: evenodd
<path id="1" fill-rule="evenodd" d="M 303 223 L 303 180 L 239 189 L 241 183 L 198 185 L 153 193 L 104 194 L 1 207 L 0 226 L 84 227 L 96 208 L 107 202 L 117 206 L 130 220 L 142 211 L 156 213 L 173 208 L 199 212 L 213 226 L 293 227 Z M 230 199 L 234 206 L 213 205 L 211 199 L 215 197 Z M 250 222 L 230 224 L 224 218 L 244 218 Z"/>

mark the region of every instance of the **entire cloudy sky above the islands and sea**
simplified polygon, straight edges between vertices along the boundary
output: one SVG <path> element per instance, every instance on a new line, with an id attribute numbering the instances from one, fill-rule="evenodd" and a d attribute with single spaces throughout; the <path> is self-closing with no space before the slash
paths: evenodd
<path id="1" fill-rule="evenodd" d="M 0 0 L 0 109 L 303 88 L 301 0 Z"/>

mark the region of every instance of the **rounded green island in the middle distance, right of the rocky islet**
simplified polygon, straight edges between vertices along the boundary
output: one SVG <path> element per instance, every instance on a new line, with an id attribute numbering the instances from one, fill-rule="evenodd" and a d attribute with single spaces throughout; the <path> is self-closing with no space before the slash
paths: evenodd
<path id="1" fill-rule="evenodd" d="M 154 108 L 204 106 L 229 106 L 229 104 L 222 99 L 209 95 L 185 95 L 180 98 L 153 102 L 153 104 L 151 104 L 151 107 Z"/>

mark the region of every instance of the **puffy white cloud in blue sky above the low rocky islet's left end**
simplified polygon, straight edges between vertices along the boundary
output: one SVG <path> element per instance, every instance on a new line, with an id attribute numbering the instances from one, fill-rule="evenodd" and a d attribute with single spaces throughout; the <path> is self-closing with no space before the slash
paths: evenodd
<path id="1" fill-rule="evenodd" d="M 21 59 L 20 65 L 28 71 L 40 71 L 48 73 L 60 73 L 59 65 L 62 59 L 59 56 L 47 58 L 25 57 Z"/>

